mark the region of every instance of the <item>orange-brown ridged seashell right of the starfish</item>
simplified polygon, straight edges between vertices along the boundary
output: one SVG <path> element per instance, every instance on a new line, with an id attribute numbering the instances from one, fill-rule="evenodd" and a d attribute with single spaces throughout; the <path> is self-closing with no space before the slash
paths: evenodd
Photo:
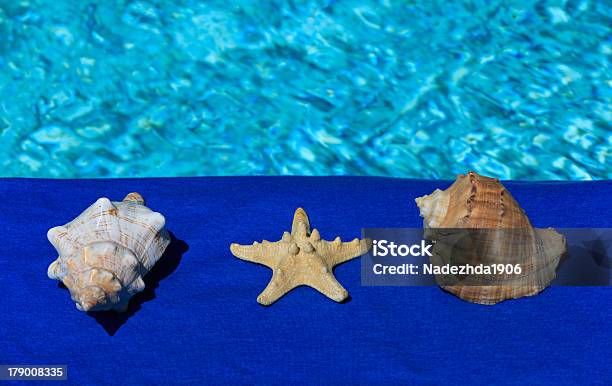
<path id="1" fill-rule="evenodd" d="M 555 278 L 566 251 L 565 237 L 552 228 L 533 228 L 498 179 L 469 172 L 416 203 L 425 238 L 434 241 L 431 263 L 520 267 L 520 273 L 436 275 L 448 292 L 470 302 L 495 304 L 538 294 Z"/>

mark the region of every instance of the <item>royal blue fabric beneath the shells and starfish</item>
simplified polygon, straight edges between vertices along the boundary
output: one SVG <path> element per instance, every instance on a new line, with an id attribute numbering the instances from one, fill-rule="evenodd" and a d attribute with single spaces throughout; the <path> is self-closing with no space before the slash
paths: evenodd
<path id="1" fill-rule="evenodd" d="M 368 177 L 0 180 L 0 364 L 67 364 L 71 383 L 574 383 L 612 379 L 610 288 L 548 288 L 496 306 L 436 287 L 362 287 L 337 304 L 298 288 L 263 307 L 268 268 L 231 242 L 278 239 L 303 206 L 324 238 L 421 225 L 448 182 Z M 507 182 L 536 226 L 610 227 L 612 181 Z M 123 316 L 89 316 L 46 276 L 46 239 L 98 197 L 131 191 L 174 240 Z"/>

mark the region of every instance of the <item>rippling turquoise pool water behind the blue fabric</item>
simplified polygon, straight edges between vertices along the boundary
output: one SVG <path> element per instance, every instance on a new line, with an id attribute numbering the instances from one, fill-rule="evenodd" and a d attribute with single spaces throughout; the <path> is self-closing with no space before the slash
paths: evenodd
<path id="1" fill-rule="evenodd" d="M 612 178 L 610 4 L 0 0 L 0 175 Z"/>

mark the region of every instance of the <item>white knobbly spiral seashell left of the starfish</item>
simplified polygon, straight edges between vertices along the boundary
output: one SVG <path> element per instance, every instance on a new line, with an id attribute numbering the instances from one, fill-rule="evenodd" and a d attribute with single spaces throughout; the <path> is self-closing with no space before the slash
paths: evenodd
<path id="1" fill-rule="evenodd" d="M 47 274 L 68 287 L 80 311 L 124 312 L 170 243 L 165 222 L 138 193 L 122 202 L 100 198 L 68 224 L 49 230 L 59 257 Z"/>

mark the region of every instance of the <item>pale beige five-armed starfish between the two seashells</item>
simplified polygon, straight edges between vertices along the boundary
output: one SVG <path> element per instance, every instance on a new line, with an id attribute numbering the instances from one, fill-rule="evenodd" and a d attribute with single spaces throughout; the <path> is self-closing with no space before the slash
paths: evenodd
<path id="1" fill-rule="evenodd" d="M 291 233 L 284 232 L 281 240 L 253 245 L 230 246 L 239 259 L 263 264 L 272 269 L 272 279 L 257 302 L 270 305 L 295 287 L 307 285 L 328 298 L 341 302 L 348 292 L 338 283 L 332 270 L 334 266 L 366 253 L 372 246 L 370 239 L 354 239 L 343 243 L 340 237 L 334 241 L 321 240 L 319 231 L 310 231 L 308 216 L 298 208 L 293 216 Z"/>

